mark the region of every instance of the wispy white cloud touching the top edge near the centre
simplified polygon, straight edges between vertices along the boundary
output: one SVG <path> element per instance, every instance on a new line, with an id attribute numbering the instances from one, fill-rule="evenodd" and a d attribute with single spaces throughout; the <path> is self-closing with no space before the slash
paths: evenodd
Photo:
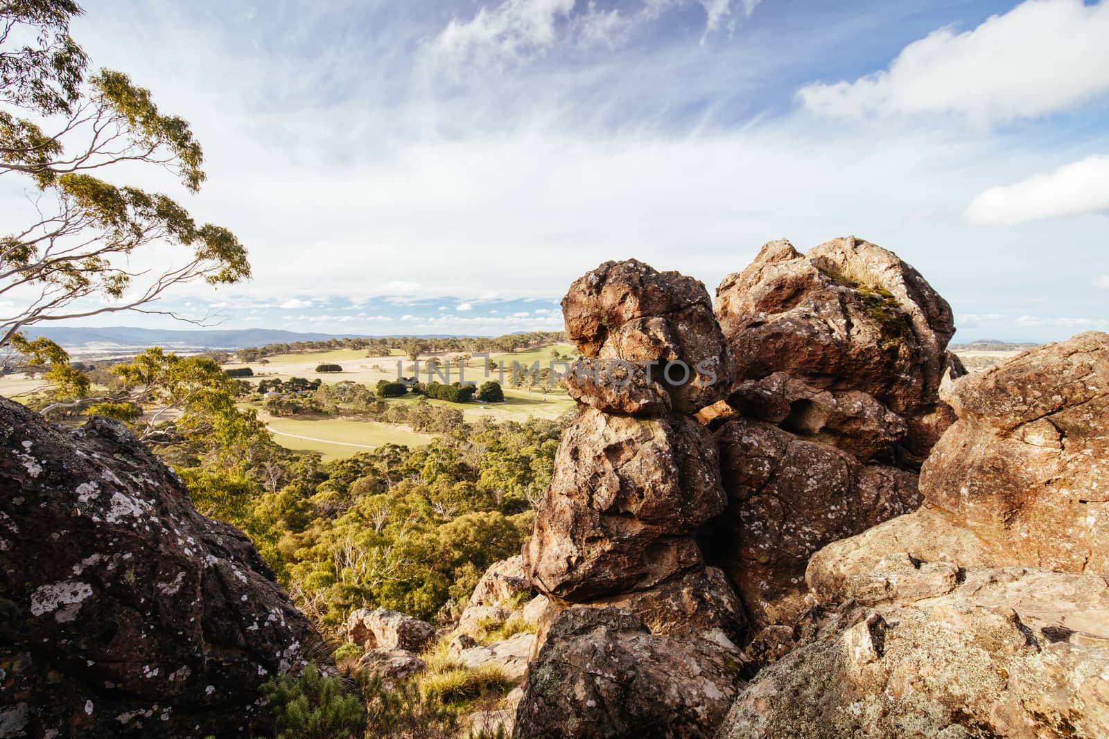
<path id="1" fill-rule="evenodd" d="M 574 0 L 506 0 L 490 10 L 482 6 L 468 22 L 457 18 L 430 44 L 433 57 L 448 66 L 499 65 L 523 52 L 554 43 L 556 21 L 568 17 Z"/>

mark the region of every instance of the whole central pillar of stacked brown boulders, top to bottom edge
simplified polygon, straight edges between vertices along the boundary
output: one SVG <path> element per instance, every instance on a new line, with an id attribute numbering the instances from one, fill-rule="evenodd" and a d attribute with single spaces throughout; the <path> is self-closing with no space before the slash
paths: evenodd
<path id="1" fill-rule="evenodd" d="M 690 414 L 728 392 L 731 356 L 704 286 L 639 261 L 601 265 L 562 307 L 586 357 L 523 548 L 548 601 L 518 736 L 709 733 L 739 679 L 745 618 L 698 546 L 726 499 L 712 433 Z"/>

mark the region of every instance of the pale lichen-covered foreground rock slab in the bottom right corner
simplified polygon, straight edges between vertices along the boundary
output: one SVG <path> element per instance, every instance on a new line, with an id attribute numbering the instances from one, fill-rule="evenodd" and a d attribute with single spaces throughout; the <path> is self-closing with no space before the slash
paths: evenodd
<path id="1" fill-rule="evenodd" d="M 1109 736 L 1109 581 L 929 567 L 903 553 L 812 644 L 765 668 L 720 737 Z"/>

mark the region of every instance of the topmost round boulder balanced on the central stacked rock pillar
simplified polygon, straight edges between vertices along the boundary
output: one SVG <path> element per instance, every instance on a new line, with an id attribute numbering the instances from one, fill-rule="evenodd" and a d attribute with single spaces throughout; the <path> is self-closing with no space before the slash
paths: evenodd
<path id="1" fill-rule="evenodd" d="M 659 415 L 671 409 L 695 413 L 728 394 L 735 367 L 709 292 L 692 277 L 659 273 L 635 259 L 606 261 L 570 286 L 562 314 L 570 340 L 587 359 L 602 360 L 579 365 L 567 378 L 579 401 L 613 413 Z M 617 360 L 631 377 L 620 377 Z M 612 377 L 628 384 L 613 387 Z"/>

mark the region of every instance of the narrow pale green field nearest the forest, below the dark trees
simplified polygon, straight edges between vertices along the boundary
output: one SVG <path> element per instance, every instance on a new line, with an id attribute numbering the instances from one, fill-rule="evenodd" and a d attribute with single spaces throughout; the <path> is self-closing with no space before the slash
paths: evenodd
<path id="1" fill-rule="evenodd" d="M 266 428 L 282 447 L 321 452 L 324 460 L 350 456 L 384 444 L 420 447 L 431 440 L 401 427 L 353 419 L 272 419 Z"/>

